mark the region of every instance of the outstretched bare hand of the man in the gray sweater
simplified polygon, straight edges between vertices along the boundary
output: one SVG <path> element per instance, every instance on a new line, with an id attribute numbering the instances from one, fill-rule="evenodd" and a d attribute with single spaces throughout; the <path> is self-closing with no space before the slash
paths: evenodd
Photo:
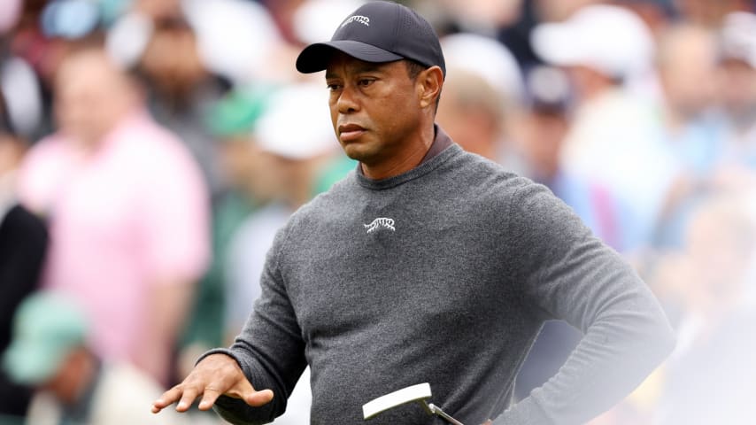
<path id="1" fill-rule="evenodd" d="M 199 410 L 210 410 L 221 395 L 241 398 L 253 407 L 266 405 L 273 399 L 272 390 L 258 391 L 252 387 L 235 359 L 218 353 L 202 359 L 182 383 L 155 400 L 152 413 L 158 413 L 176 402 L 176 410 L 186 412 L 200 396 Z"/>

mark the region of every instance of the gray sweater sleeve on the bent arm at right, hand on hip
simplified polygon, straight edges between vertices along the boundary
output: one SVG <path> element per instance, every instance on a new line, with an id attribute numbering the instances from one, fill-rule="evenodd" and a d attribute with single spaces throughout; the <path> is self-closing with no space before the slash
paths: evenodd
<path id="1" fill-rule="evenodd" d="M 561 319 L 583 337 L 559 372 L 495 425 L 577 424 L 641 383 L 674 346 L 651 290 L 543 186 L 525 183 L 509 207 L 513 274 L 536 320 Z"/>

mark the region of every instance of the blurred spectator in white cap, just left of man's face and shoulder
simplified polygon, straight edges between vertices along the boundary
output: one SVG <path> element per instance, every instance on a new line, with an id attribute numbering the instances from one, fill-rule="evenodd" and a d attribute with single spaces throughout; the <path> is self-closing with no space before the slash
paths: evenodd
<path id="1" fill-rule="evenodd" d="M 255 128 L 254 143 L 258 145 L 259 155 L 266 158 L 266 172 L 276 180 L 271 185 L 275 196 L 272 202 L 244 220 L 231 241 L 228 278 L 232 301 L 228 328 L 235 334 L 241 332 L 251 305 L 260 295 L 266 252 L 273 246 L 276 232 L 299 206 L 310 200 L 321 172 L 332 164 L 332 158 L 338 153 L 328 112 L 322 108 L 327 99 L 325 89 L 305 83 L 293 84 L 270 97 Z M 292 115 L 300 117 L 297 127 L 282 132 Z M 275 423 L 310 422 L 309 383 L 307 369 L 289 397 L 286 413 Z"/>

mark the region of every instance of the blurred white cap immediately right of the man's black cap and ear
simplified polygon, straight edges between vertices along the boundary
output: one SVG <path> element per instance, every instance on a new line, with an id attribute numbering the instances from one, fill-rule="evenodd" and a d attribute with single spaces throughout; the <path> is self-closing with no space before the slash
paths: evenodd
<path id="1" fill-rule="evenodd" d="M 504 44 L 476 34 L 447 35 L 441 39 L 446 66 L 481 76 L 507 98 L 523 99 L 520 66 Z"/>

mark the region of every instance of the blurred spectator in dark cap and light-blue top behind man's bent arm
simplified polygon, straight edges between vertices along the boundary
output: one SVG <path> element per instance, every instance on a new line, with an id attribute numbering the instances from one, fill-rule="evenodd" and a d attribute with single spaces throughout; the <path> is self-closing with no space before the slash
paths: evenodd
<path id="1" fill-rule="evenodd" d="M 620 208 L 612 193 L 567 172 L 560 162 L 570 126 L 567 76 L 559 69 L 538 66 L 528 73 L 527 82 L 530 105 L 522 114 L 518 139 L 523 174 L 552 189 L 594 235 L 621 250 Z M 580 332 L 567 322 L 546 321 L 517 375 L 516 397 L 527 397 L 557 373 L 579 341 Z"/>

